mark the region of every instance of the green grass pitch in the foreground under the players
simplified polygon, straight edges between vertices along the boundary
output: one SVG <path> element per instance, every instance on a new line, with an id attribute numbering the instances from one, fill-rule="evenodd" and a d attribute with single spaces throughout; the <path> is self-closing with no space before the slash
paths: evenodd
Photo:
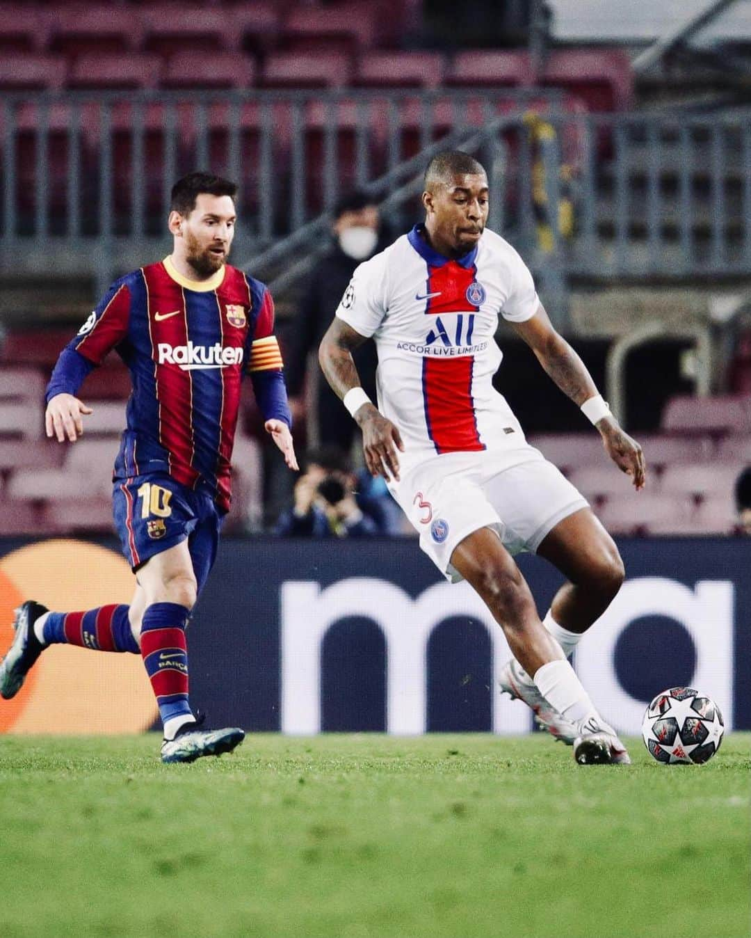
<path id="1" fill-rule="evenodd" d="M 0 935 L 734 938 L 749 735 L 704 766 L 543 734 L 0 737 Z"/>

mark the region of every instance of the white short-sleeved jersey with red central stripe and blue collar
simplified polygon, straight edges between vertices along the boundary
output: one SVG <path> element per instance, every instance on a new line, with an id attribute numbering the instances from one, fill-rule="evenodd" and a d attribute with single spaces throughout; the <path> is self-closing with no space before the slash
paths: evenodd
<path id="1" fill-rule="evenodd" d="M 464 257 L 432 250 L 415 226 L 359 265 L 337 316 L 378 350 L 378 406 L 395 423 L 402 475 L 443 453 L 524 446 L 518 420 L 492 386 L 503 357 L 499 314 L 538 308 L 532 274 L 508 242 L 485 230 Z"/>

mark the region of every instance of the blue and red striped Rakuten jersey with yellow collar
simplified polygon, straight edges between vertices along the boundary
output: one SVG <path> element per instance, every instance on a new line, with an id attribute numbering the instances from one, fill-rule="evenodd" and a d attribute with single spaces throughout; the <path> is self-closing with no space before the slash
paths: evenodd
<path id="1" fill-rule="evenodd" d="M 243 374 L 282 367 L 264 284 L 230 265 L 188 280 L 166 258 L 115 281 L 68 349 L 93 365 L 115 349 L 130 371 L 114 476 L 165 472 L 226 511 Z"/>

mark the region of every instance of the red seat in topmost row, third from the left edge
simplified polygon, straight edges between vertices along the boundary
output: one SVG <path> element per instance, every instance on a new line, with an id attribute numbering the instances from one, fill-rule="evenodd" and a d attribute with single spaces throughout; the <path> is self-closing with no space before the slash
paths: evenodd
<path id="1" fill-rule="evenodd" d="M 239 52 L 234 22 L 221 9 L 174 8 L 155 4 L 141 13 L 143 51 L 158 55 L 181 52 Z"/>

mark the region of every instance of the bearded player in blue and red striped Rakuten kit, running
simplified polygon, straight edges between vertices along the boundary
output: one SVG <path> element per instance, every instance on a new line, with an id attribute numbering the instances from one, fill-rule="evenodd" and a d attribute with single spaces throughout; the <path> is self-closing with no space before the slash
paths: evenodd
<path id="1" fill-rule="evenodd" d="M 259 280 L 227 264 L 236 187 L 192 173 L 173 187 L 173 252 L 116 280 L 63 350 L 47 388 L 47 435 L 83 433 L 91 409 L 76 396 L 116 350 L 130 371 L 127 428 L 114 464 L 113 510 L 136 575 L 129 606 L 50 612 L 28 600 L 0 665 L 0 694 L 15 696 L 53 643 L 143 656 L 164 727 L 164 762 L 234 749 L 238 728 L 208 730 L 188 703 L 186 626 L 217 555 L 230 507 L 230 460 L 245 373 L 265 429 L 298 468 L 274 336 L 274 303 Z"/>

